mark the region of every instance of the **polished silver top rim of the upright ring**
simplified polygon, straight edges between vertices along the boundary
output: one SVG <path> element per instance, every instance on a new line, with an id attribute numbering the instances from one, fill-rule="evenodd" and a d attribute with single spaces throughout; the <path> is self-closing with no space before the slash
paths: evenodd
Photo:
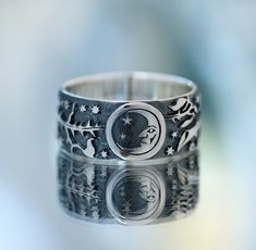
<path id="1" fill-rule="evenodd" d="M 173 100 L 180 97 L 186 97 L 186 96 L 192 96 L 196 92 L 197 90 L 197 86 L 190 79 L 181 77 L 181 76 L 176 76 L 176 75 L 169 75 L 169 74 L 163 74 L 163 73 L 149 73 L 149 72 L 111 72 L 111 73 L 100 73 L 100 74 L 93 74 L 93 75 L 87 75 L 87 76 L 81 76 L 81 77 L 76 77 L 73 78 L 71 80 L 65 82 L 62 87 L 60 88 L 60 92 L 65 93 L 70 97 L 73 98 L 78 98 L 82 100 L 92 100 L 92 101 L 106 101 L 109 103 L 123 103 L 123 102 L 133 102 L 133 100 L 105 100 L 105 99 L 98 99 L 98 98 L 88 98 L 88 97 L 83 97 L 80 95 L 75 95 L 72 93 L 70 91 L 68 91 L 69 87 L 72 86 L 77 86 L 77 85 L 82 85 L 82 84 L 86 84 L 86 82 L 88 80 L 106 80 L 106 79 L 117 79 L 117 78 L 130 78 L 130 77 L 137 77 L 137 78 L 149 78 L 149 79 L 155 79 L 155 80 L 168 80 L 171 84 L 180 84 L 180 85 L 185 85 L 192 88 L 191 91 L 187 91 L 183 95 L 178 95 L 175 97 L 171 97 L 171 98 L 159 98 L 156 100 L 153 99 L 143 99 L 139 100 L 142 102 L 150 102 L 150 101 L 168 101 L 168 100 Z M 137 102 L 138 100 L 136 100 Z"/>

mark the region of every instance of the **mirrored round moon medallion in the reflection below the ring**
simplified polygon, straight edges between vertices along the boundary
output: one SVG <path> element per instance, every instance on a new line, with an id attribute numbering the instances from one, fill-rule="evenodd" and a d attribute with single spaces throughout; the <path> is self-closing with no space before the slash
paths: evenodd
<path id="1" fill-rule="evenodd" d="M 107 208 L 125 225 L 145 225 L 162 212 L 166 188 L 157 171 L 126 168 L 117 171 L 106 190 Z"/>

